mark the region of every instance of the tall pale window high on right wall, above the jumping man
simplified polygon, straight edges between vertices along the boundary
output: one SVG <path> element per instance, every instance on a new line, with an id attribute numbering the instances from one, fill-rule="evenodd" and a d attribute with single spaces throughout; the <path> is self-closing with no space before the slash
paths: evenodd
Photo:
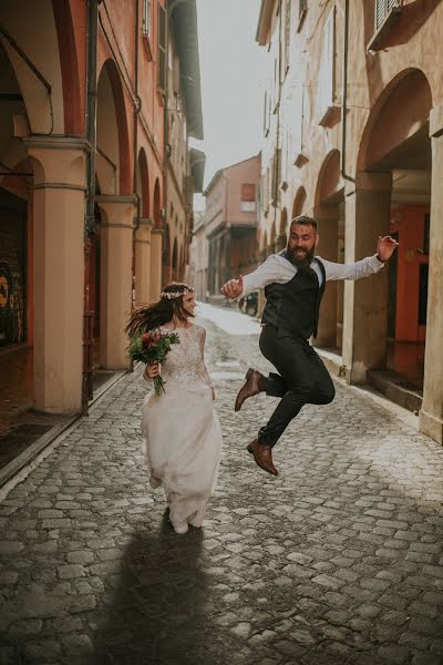
<path id="1" fill-rule="evenodd" d="M 336 10 L 328 16 L 323 25 L 323 44 L 321 51 L 320 70 L 317 83 L 317 105 L 319 124 L 322 124 L 333 108 L 334 96 L 334 33 Z"/>

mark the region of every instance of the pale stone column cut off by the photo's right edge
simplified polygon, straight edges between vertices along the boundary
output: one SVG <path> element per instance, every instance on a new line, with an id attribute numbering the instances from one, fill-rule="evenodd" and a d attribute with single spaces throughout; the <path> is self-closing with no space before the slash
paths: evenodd
<path id="1" fill-rule="evenodd" d="M 443 104 L 430 115 L 432 146 L 431 225 L 424 391 L 420 429 L 443 443 Z"/>

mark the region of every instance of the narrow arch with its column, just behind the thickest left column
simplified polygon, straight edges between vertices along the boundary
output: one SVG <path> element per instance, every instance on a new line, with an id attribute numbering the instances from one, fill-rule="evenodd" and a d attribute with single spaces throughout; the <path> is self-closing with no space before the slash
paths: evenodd
<path id="1" fill-rule="evenodd" d="M 112 59 L 104 62 L 99 74 L 96 141 L 101 191 L 96 197 L 101 213 L 99 362 L 106 369 L 124 369 L 130 365 L 124 328 L 132 308 L 136 207 L 123 88 Z"/>

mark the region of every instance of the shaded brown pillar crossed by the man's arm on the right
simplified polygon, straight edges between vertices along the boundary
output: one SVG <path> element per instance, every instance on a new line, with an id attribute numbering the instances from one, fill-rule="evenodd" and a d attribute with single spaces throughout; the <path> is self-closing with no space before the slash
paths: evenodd
<path id="1" fill-rule="evenodd" d="M 313 211 L 320 236 L 316 254 L 337 262 L 338 209 L 336 205 L 319 205 Z M 337 282 L 328 282 L 321 306 L 316 346 L 336 346 L 337 338 Z"/>

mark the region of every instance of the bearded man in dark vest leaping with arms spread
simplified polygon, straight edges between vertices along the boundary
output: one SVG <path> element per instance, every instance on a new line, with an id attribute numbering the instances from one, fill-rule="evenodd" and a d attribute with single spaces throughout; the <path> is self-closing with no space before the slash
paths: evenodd
<path id="1" fill-rule="evenodd" d="M 253 273 L 222 287 L 239 298 L 265 287 L 266 306 L 259 346 L 278 374 L 265 377 L 249 369 L 237 395 L 235 410 L 248 397 L 265 391 L 280 397 L 269 421 L 247 446 L 259 467 L 274 475 L 272 447 L 306 403 L 327 405 L 336 390 L 328 370 L 309 344 L 317 336 L 320 303 L 329 279 L 360 279 L 378 273 L 392 256 L 396 241 L 379 237 L 377 254 L 353 264 L 337 264 L 315 255 L 319 242 L 317 222 L 306 215 L 292 219 L 287 248 L 271 254 Z"/>

